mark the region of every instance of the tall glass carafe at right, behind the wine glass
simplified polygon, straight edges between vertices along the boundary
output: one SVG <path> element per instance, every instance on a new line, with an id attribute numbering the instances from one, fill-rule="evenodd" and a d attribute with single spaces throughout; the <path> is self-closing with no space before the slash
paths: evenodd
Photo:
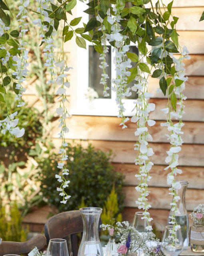
<path id="1" fill-rule="evenodd" d="M 184 247 L 183 250 L 188 249 L 188 242 L 189 242 L 189 222 L 188 222 L 188 213 L 186 210 L 186 189 L 188 186 L 188 181 L 176 181 L 180 182 L 181 189 L 176 189 L 176 193 L 180 196 L 180 200 L 176 202 L 177 208 L 180 213 L 175 214 L 175 219 L 178 225 L 181 226 L 181 233 L 183 238 Z M 171 221 L 170 216 L 172 216 L 173 212 L 170 210 L 167 225 L 169 225 L 169 221 Z"/>

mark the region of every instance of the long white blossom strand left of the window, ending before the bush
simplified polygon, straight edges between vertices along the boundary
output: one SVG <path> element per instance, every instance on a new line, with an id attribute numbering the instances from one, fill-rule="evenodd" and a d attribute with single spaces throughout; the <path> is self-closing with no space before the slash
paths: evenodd
<path id="1" fill-rule="evenodd" d="M 60 203 L 66 203 L 67 199 L 69 199 L 71 196 L 67 195 L 67 193 L 64 191 L 66 187 L 68 187 L 70 181 L 66 179 L 66 176 L 69 175 L 69 170 L 65 167 L 64 161 L 68 159 L 68 155 L 66 154 L 66 146 L 68 146 L 67 142 L 65 141 L 65 133 L 69 132 L 68 127 L 66 126 L 66 118 L 70 117 L 70 114 L 68 113 L 65 102 L 68 102 L 66 98 L 66 88 L 70 87 L 70 83 L 67 81 L 67 74 L 64 74 L 64 72 L 68 72 L 71 67 L 65 66 L 64 59 L 61 61 L 57 61 L 54 64 L 56 67 L 60 67 L 60 75 L 56 77 L 56 84 L 60 87 L 58 88 L 56 95 L 60 95 L 58 99 L 61 99 L 60 101 L 60 107 L 56 109 L 57 114 L 60 116 L 59 118 L 59 128 L 61 128 L 59 135 L 59 138 L 62 139 L 62 146 L 60 147 L 59 154 L 61 154 L 61 161 L 58 163 L 58 168 L 61 171 L 60 175 L 55 175 L 56 179 L 61 183 L 60 187 L 57 188 L 57 191 L 60 192 L 60 196 L 63 197 L 62 201 Z"/>

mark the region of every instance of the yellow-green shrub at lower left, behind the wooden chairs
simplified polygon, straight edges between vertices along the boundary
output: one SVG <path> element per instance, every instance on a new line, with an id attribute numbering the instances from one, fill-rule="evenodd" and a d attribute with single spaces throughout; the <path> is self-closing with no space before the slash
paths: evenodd
<path id="1" fill-rule="evenodd" d="M 5 206 L 0 201 L 0 237 L 3 241 L 25 242 L 28 235 L 28 227 L 22 229 L 22 217 L 18 211 L 16 202 L 10 207 L 10 214 L 6 214 Z"/>

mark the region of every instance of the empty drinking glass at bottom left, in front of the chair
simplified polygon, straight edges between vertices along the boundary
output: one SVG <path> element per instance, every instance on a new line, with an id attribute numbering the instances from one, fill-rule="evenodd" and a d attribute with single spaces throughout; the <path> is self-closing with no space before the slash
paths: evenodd
<path id="1" fill-rule="evenodd" d="M 50 239 L 46 256 L 69 256 L 65 239 Z"/>

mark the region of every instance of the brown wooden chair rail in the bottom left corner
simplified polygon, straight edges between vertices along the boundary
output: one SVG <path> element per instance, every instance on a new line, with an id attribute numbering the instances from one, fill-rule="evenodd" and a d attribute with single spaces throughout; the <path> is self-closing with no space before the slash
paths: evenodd
<path id="1" fill-rule="evenodd" d="M 0 256 L 4 254 L 22 254 L 30 252 L 35 246 L 38 250 L 44 248 L 46 238 L 43 235 L 35 236 L 26 242 L 7 242 L 2 241 L 0 244 Z"/>

